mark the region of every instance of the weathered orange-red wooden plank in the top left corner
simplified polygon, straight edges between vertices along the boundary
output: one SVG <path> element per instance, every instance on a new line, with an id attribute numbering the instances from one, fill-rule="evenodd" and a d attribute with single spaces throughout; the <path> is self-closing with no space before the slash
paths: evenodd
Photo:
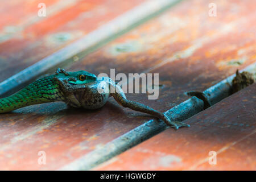
<path id="1" fill-rule="evenodd" d="M 38 4 L 46 4 L 46 17 Z M 0 81 L 22 71 L 144 0 L 2 1 Z M 12 12 L 12 13 L 10 13 Z"/>

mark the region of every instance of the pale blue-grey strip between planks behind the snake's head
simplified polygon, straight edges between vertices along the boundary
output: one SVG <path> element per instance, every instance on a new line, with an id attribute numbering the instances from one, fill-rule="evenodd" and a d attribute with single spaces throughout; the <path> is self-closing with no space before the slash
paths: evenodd
<path id="1" fill-rule="evenodd" d="M 146 22 L 146 20 L 163 13 L 180 1 L 150 0 L 141 3 L 141 5 L 118 16 L 76 42 L 69 44 L 63 49 L 38 61 L 38 63 L 0 82 L 0 96 L 3 96 L 7 92 L 18 90 L 21 86 L 29 84 L 36 77 L 43 75 L 49 70 L 52 71 L 61 64 L 70 64 L 74 59 L 81 60 L 82 57 L 88 55 L 90 52 L 104 46 L 111 40 Z"/>

